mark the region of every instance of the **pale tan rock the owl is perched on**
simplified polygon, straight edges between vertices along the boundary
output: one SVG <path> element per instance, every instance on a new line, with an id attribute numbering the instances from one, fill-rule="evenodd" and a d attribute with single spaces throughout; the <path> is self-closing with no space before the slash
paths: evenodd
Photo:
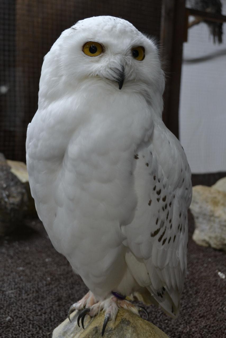
<path id="1" fill-rule="evenodd" d="M 77 325 L 78 312 L 71 314 L 70 323 L 65 319 L 53 331 L 52 338 L 101 338 L 104 314 L 90 318 L 85 316 L 84 327 Z M 81 322 L 80 322 L 81 323 Z M 80 326 L 82 326 L 80 324 Z M 116 321 L 109 321 L 104 338 L 167 338 L 168 336 L 155 325 L 142 319 L 138 315 L 120 308 Z"/>

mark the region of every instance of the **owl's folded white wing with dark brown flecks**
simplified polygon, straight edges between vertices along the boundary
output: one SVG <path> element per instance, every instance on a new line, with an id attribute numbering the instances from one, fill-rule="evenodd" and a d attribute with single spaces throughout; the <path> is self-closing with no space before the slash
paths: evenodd
<path id="1" fill-rule="evenodd" d="M 150 292 L 149 301 L 176 317 L 187 264 L 190 168 L 179 141 L 161 122 L 135 161 L 138 206 L 132 223 L 123 227 L 125 259 L 138 284 Z"/>

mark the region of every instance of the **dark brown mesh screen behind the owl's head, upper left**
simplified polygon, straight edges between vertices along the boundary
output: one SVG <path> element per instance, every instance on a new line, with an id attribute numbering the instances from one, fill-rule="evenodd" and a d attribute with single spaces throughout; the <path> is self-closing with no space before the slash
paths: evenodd
<path id="1" fill-rule="evenodd" d="M 25 161 L 27 124 L 38 104 L 43 56 L 78 20 L 112 15 L 159 38 L 161 1 L 2 0 L 0 2 L 0 152 Z"/>

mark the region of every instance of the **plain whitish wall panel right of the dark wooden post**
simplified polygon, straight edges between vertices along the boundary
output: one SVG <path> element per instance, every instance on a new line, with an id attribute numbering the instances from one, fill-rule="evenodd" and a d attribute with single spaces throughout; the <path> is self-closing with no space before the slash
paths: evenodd
<path id="1" fill-rule="evenodd" d="M 218 56 L 188 62 L 212 54 Z M 179 130 L 191 171 L 226 171 L 226 23 L 221 45 L 214 45 L 205 23 L 189 28 L 183 60 Z"/>

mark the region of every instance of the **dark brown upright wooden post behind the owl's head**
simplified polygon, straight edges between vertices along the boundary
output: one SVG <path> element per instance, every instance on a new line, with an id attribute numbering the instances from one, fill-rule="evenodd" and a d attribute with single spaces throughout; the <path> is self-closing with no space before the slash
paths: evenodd
<path id="1" fill-rule="evenodd" d="M 179 138 L 179 101 L 185 19 L 185 0 L 163 0 L 161 55 L 168 63 L 163 121 L 177 138 Z"/>

